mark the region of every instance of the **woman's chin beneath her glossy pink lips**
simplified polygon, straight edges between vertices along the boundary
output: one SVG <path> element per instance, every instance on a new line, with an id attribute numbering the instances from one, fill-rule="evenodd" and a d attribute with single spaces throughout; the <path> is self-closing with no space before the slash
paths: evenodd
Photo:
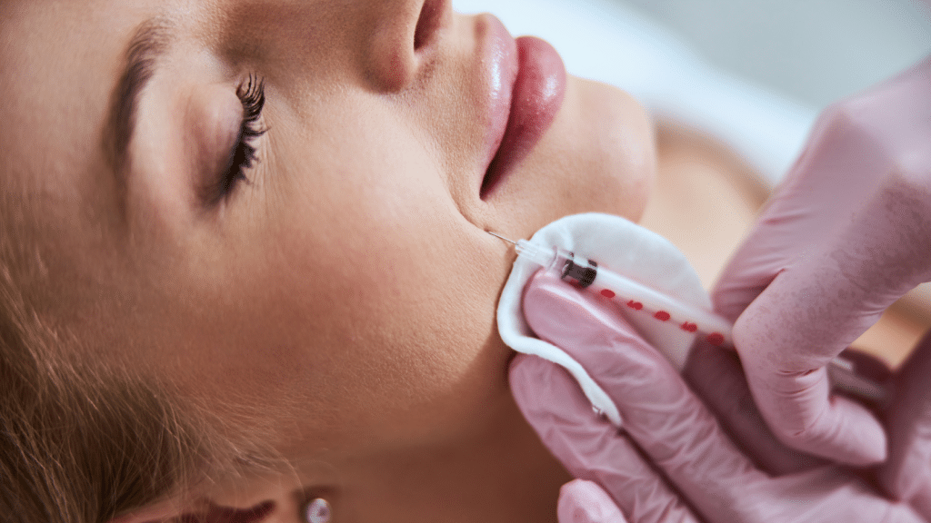
<path id="1" fill-rule="evenodd" d="M 639 221 L 655 170 L 654 125 L 641 104 L 570 76 L 551 127 L 490 203 L 506 209 L 506 230 L 524 237 L 582 212 Z"/>

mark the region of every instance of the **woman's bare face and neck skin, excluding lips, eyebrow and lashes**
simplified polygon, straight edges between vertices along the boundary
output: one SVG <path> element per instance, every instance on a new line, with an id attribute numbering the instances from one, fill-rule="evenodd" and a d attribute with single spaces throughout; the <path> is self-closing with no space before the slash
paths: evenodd
<path id="1" fill-rule="evenodd" d="M 168 379 L 292 465 L 219 482 L 211 503 L 272 500 L 268 520 L 293 521 L 326 492 L 337 521 L 555 518 L 568 477 L 513 404 L 494 325 L 514 255 L 485 231 L 638 219 L 652 129 L 623 92 L 571 77 L 542 140 L 479 197 L 487 20 L 444 3 L 415 49 L 422 6 L 0 5 L 0 190 L 35 244 L 43 277 L 25 287 L 42 314 L 74 350 Z M 158 15 L 172 44 L 115 173 L 104 115 L 129 38 Z M 249 181 L 205 205 L 250 74 L 269 130 Z"/>

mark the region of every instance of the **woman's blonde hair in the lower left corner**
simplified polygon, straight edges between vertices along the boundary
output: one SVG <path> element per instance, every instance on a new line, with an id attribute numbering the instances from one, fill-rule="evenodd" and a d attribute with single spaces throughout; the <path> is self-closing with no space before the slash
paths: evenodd
<path id="1" fill-rule="evenodd" d="M 169 382 L 80 361 L 17 290 L 0 249 L 0 521 L 103 523 L 196 484 L 279 465 Z M 240 420 L 241 421 L 241 420 Z M 213 474 L 216 476 L 208 476 Z"/>

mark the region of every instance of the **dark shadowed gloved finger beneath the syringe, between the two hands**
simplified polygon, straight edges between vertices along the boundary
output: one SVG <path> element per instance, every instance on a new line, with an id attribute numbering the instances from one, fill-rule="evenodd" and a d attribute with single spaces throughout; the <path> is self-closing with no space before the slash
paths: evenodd
<path id="1" fill-rule="evenodd" d="M 790 449 L 766 426 L 734 351 L 698 340 L 682 376 L 714 412 L 735 445 L 762 471 L 782 476 L 828 464 L 811 454 Z"/>

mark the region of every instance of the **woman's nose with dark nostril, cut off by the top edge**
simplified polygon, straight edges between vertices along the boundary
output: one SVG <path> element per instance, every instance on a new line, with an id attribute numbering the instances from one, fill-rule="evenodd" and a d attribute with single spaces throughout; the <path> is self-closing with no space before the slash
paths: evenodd
<path id="1" fill-rule="evenodd" d="M 452 18 L 451 0 L 396 0 L 373 9 L 367 74 L 372 87 L 397 92 L 416 80 Z"/>

